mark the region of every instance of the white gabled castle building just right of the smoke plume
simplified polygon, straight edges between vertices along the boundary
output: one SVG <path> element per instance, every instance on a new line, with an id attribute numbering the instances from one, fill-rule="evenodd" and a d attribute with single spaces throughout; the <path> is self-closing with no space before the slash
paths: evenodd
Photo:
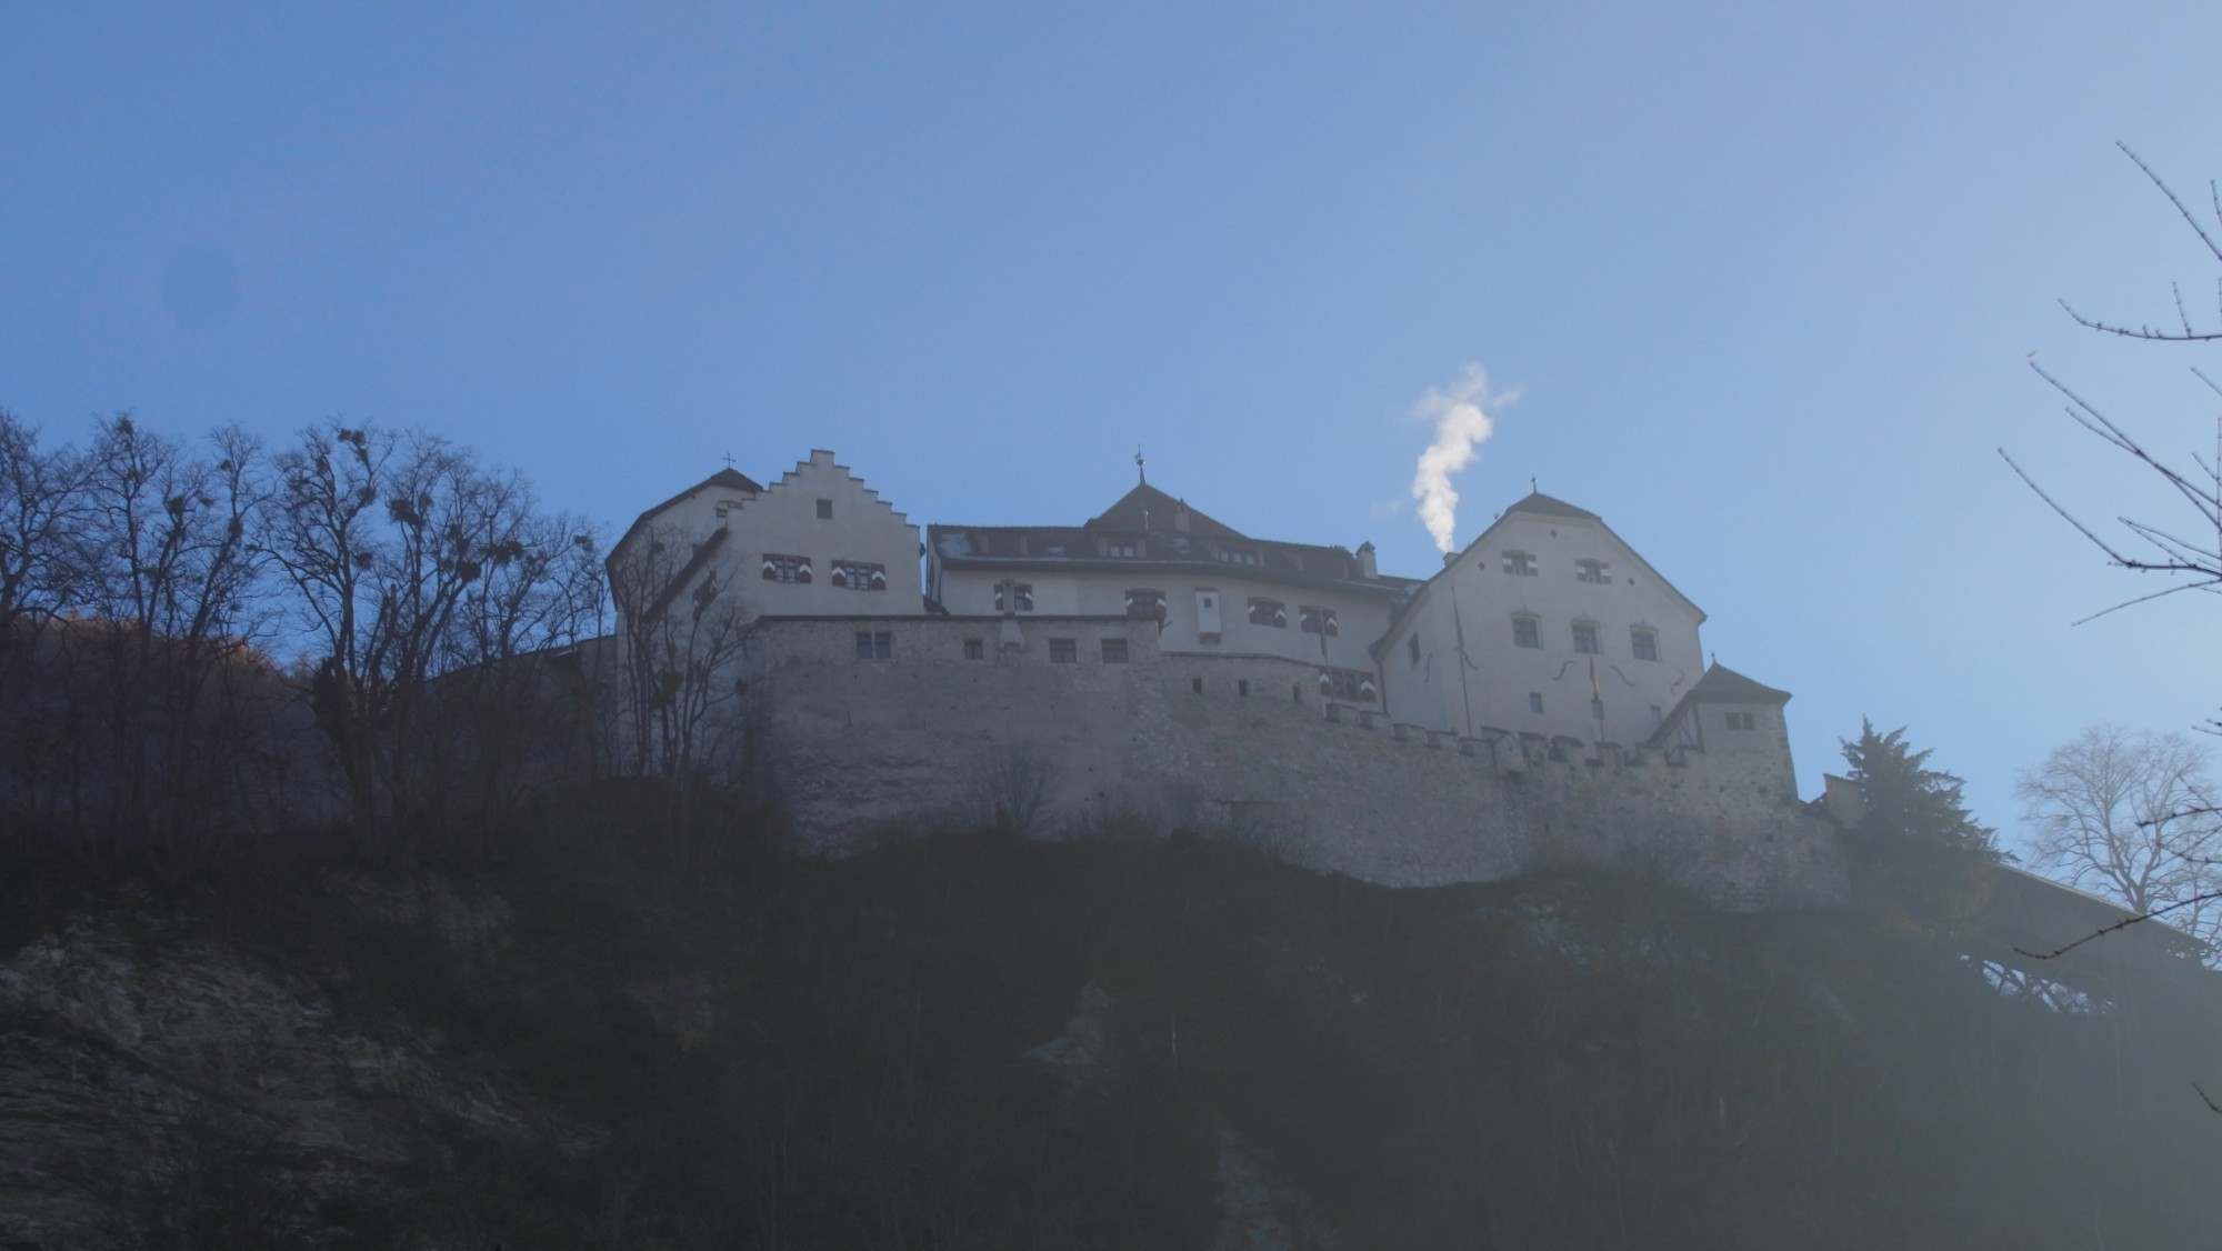
<path id="1" fill-rule="evenodd" d="M 1398 722 L 1633 747 L 1704 673 L 1702 622 L 1595 513 L 1529 496 L 1373 651 Z"/>

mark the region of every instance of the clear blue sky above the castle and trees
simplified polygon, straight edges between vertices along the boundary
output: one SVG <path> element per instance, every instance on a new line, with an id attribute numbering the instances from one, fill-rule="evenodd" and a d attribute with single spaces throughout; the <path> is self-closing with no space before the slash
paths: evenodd
<path id="1" fill-rule="evenodd" d="M 1800 782 L 1906 724 L 2018 827 L 2093 720 L 2218 715 L 2222 604 L 2026 364 L 2213 449 L 2222 347 L 2100 340 L 2218 264 L 2222 4 L 36 4 L 0 0 L 0 404 L 76 436 L 431 427 L 620 527 L 831 447 L 911 520 L 1133 482 L 1427 576 L 1413 407 L 1495 438 L 1795 693 Z"/>

